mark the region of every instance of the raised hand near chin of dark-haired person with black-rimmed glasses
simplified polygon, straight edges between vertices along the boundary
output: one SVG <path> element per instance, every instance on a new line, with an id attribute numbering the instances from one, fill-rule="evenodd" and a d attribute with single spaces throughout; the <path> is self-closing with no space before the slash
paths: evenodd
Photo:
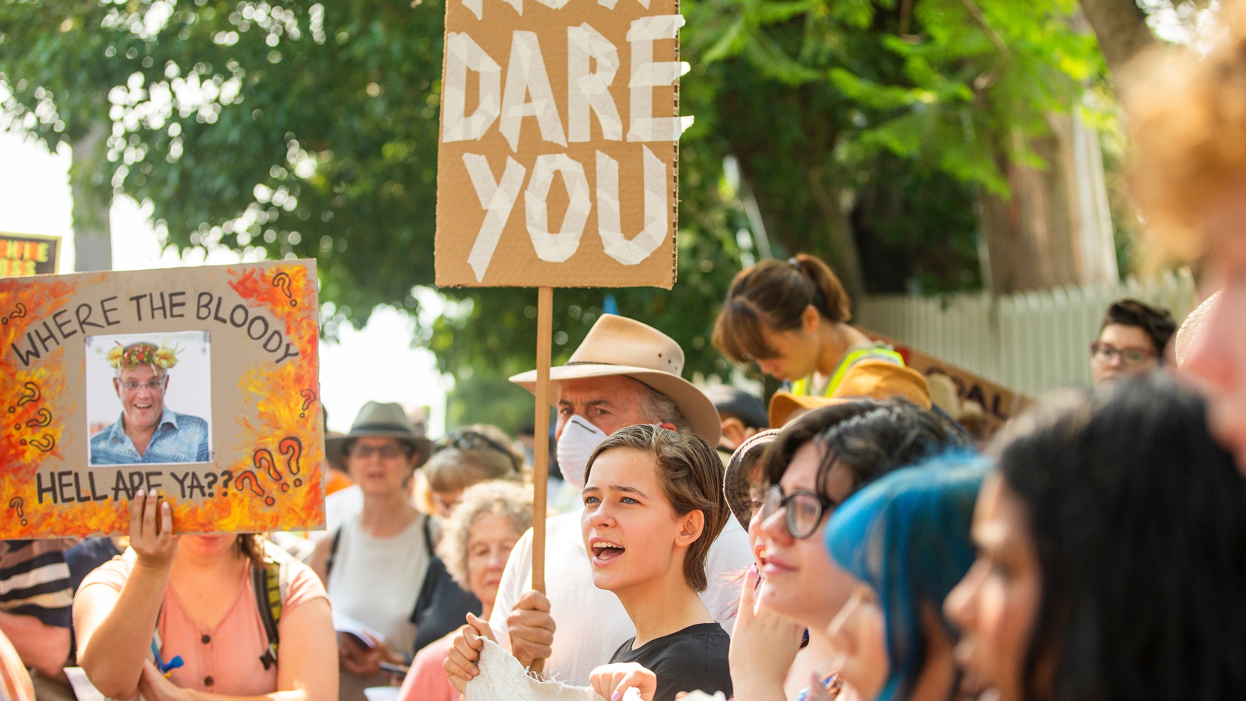
<path id="1" fill-rule="evenodd" d="M 804 627 L 758 606 L 758 578 L 756 565 L 744 576 L 740 612 L 728 652 L 731 686 L 741 699 L 782 699 L 782 680 L 800 651 Z"/>

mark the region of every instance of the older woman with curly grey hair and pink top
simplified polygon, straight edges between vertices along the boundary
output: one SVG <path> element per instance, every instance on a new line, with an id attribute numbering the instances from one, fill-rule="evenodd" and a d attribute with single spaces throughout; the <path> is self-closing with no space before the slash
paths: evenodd
<path id="1" fill-rule="evenodd" d="M 467 488 L 446 520 L 437 556 L 455 581 L 480 599 L 485 609 L 483 620 L 488 620 L 493 611 L 506 559 L 530 528 L 532 488 L 505 480 Z M 459 697 L 441 666 L 456 632 L 416 654 L 399 691 L 399 701 L 452 701 Z"/>

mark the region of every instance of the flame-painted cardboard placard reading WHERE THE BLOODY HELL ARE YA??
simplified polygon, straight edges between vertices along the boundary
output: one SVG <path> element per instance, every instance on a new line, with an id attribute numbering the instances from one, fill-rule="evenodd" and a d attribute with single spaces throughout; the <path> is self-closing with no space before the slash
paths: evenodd
<path id="1" fill-rule="evenodd" d="M 0 538 L 324 524 L 314 261 L 0 279 Z"/>

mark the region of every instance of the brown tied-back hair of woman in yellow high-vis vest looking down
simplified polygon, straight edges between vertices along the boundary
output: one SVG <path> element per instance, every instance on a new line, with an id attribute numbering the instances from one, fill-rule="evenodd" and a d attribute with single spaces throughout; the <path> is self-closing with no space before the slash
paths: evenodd
<path id="1" fill-rule="evenodd" d="M 790 261 L 761 261 L 731 281 L 710 342 L 736 363 L 774 358 L 761 331 L 800 328 L 810 306 L 831 322 L 852 318 L 840 278 L 821 259 L 797 253 Z"/>

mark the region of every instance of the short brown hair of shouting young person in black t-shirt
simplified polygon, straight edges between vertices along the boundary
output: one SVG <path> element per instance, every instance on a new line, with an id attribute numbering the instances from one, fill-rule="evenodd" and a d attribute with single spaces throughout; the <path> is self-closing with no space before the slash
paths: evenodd
<path id="1" fill-rule="evenodd" d="M 705 591 L 709 586 L 705 559 L 730 514 L 723 496 L 723 463 L 718 454 L 695 433 L 675 433 L 652 424 L 630 425 L 612 433 L 593 450 L 584 469 L 586 481 L 598 455 L 614 448 L 652 453 L 662 491 L 675 513 L 680 516 L 692 511 L 705 515 L 700 536 L 684 556 L 684 579 L 694 591 Z"/>

